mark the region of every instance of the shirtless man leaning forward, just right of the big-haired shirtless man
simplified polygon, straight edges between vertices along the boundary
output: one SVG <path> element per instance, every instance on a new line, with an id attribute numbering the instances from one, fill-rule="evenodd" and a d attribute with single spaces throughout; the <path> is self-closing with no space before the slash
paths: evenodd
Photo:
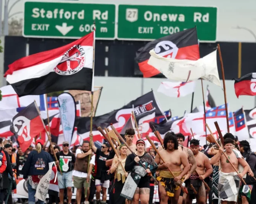
<path id="1" fill-rule="evenodd" d="M 203 180 L 206 177 L 210 176 L 210 174 L 213 172 L 213 167 L 210 164 L 210 159 L 205 154 L 199 151 L 198 139 L 191 139 L 190 149 L 192 150 L 193 155 L 196 159 L 196 170 L 199 175 L 196 171 L 194 171 L 186 182 L 188 188 L 187 204 L 192 204 L 192 201 L 195 197 L 198 204 L 205 204 L 206 193 Z M 197 191 L 197 195 L 194 194 L 194 191 L 191 189 L 190 184 L 192 184 Z"/>

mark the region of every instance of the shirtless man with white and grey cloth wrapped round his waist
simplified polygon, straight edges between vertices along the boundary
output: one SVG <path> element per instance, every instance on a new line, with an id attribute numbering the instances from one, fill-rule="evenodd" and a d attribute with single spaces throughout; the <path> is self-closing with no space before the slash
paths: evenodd
<path id="1" fill-rule="evenodd" d="M 218 191 L 221 204 L 227 204 L 228 201 L 230 204 L 236 204 L 240 188 L 240 179 L 246 176 L 246 173 L 250 168 L 240 152 L 234 151 L 233 145 L 233 139 L 224 139 L 224 148 L 226 150 L 224 150 L 223 147 L 220 147 L 219 152 L 214 155 L 210 161 L 211 164 L 215 164 L 220 161 Z M 243 167 L 243 171 L 237 174 L 229 164 L 229 161 L 223 155 L 223 152 L 226 152 L 229 160 L 238 171 L 242 171 L 242 168 L 239 168 L 239 165 L 241 165 L 240 167 Z"/>

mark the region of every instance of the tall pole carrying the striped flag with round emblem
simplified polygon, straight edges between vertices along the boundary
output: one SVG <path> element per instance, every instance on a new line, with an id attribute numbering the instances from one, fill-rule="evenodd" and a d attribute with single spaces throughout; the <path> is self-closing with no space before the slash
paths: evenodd
<path id="1" fill-rule="evenodd" d="M 92 94 L 91 94 L 91 122 L 90 122 L 90 149 L 92 148 L 91 144 L 93 142 L 92 138 L 92 118 L 93 118 L 93 85 L 94 85 L 94 65 L 95 65 L 95 22 L 93 22 L 93 58 L 92 58 Z M 88 167 L 87 172 L 89 172 L 90 168 L 90 161 L 91 161 L 91 154 L 88 157 Z M 86 182 L 85 185 L 85 198 L 87 197 L 87 188 L 88 188 L 88 182 Z"/>

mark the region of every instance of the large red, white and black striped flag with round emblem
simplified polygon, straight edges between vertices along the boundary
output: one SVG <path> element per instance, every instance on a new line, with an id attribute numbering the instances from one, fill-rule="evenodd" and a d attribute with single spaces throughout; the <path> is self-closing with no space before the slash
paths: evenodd
<path id="1" fill-rule="evenodd" d="M 5 73 L 19 96 L 93 88 L 94 31 L 68 45 L 16 60 Z"/>

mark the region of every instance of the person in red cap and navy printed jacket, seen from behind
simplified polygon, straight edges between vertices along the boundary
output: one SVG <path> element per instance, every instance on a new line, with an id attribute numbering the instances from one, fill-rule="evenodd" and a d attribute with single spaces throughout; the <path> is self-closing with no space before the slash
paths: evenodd
<path id="1" fill-rule="evenodd" d="M 35 204 L 36 188 L 42 177 L 49 171 L 49 163 L 53 162 L 48 152 L 43 151 L 43 140 L 36 141 L 36 150 L 29 153 L 27 160 L 22 168 L 23 178 L 27 180 L 29 194 L 29 204 Z M 38 200 L 38 204 L 45 201 Z"/>

